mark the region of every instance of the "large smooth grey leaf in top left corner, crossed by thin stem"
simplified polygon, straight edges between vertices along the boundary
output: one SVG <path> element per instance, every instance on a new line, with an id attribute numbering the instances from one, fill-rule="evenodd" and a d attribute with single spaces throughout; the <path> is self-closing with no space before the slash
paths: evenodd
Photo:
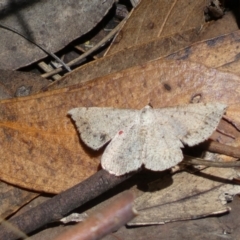
<path id="1" fill-rule="evenodd" d="M 90 31 L 106 15 L 114 0 L 2 1 L 0 24 L 16 29 L 46 50 L 56 52 Z M 46 53 L 21 36 L 0 28 L 0 68 L 16 69 Z"/>

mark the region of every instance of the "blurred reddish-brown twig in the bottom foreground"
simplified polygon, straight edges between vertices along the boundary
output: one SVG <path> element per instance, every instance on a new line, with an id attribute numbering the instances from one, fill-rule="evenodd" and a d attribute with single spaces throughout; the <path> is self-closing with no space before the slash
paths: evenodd
<path id="1" fill-rule="evenodd" d="M 137 215 L 133 208 L 133 193 L 126 191 L 115 198 L 114 202 L 89 216 L 83 223 L 78 223 L 72 229 L 54 238 L 54 240 L 97 240 L 116 231 Z"/>

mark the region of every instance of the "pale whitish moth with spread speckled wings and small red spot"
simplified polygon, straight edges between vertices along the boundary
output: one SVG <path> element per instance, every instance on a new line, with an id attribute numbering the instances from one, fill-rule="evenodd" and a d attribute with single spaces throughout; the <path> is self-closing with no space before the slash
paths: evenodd
<path id="1" fill-rule="evenodd" d="M 153 171 L 177 165 L 183 144 L 193 146 L 209 138 L 225 109 L 220 103 L 197 103 L 142 110 L 82 107 L 68 113 L 90 148 L 98 150 L 111 141 L 101 164 L 120 176 L 142 165 Z"/>

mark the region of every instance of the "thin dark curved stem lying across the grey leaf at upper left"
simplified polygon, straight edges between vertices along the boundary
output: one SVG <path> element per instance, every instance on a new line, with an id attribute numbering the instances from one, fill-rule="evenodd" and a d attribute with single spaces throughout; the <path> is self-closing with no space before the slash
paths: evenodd
<path id="1" fill-rule="evenodd" d="M 51 57 L 53 57 L 57 62 L 59 62 L 60 64 L 62 64 L 62 66 L 68 71 L 68 72 L 71 72 L 71 68 L 68 67 L 66 65 L 66 63 L 64 63 L 57 55 L 55 55 L 54 53 L 46 50 L 45 48 L 43 48 L 42 46 L 40 46 L 39 44 L 37 44 L 36 42 L 32 41 L 31 39 L 29 39 L 27 36 L 25 36 L 24 34 L 20 33 L 18 30 L 6 25 L 6 24 L 3 24 L 3 23 L 0 23 L 0 27 L 1 28 L 4 28 L 4 29 L 7 29 L 11 32 L 14 32 L 16 34 L 18 34 L 19 36 L 23 37 L 24 39 L 26 39 L 27 41 L 29 41 L 30 43 L 34 44 L 35 46 L 37 46 L 38 48 L 40 48 L 43 52 L 45 52 L 46 54 L 50 55 Z"/>

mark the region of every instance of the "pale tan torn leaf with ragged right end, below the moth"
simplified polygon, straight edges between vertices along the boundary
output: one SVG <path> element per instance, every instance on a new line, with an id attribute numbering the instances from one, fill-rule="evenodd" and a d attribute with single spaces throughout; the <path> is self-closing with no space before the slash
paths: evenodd
<path id="1" fill-rule="evenodd" d="M 223 206 L 226 198 L 240 192 L 240 186 L 229 181 L 234 177 L 233 169 L 208 168 L 196 175 L 181 172 L 172 179 L 159 179 L 155 191 L 136 199 L 139 215 L 128 225 L 164 224 L 228 212 Z"/>

